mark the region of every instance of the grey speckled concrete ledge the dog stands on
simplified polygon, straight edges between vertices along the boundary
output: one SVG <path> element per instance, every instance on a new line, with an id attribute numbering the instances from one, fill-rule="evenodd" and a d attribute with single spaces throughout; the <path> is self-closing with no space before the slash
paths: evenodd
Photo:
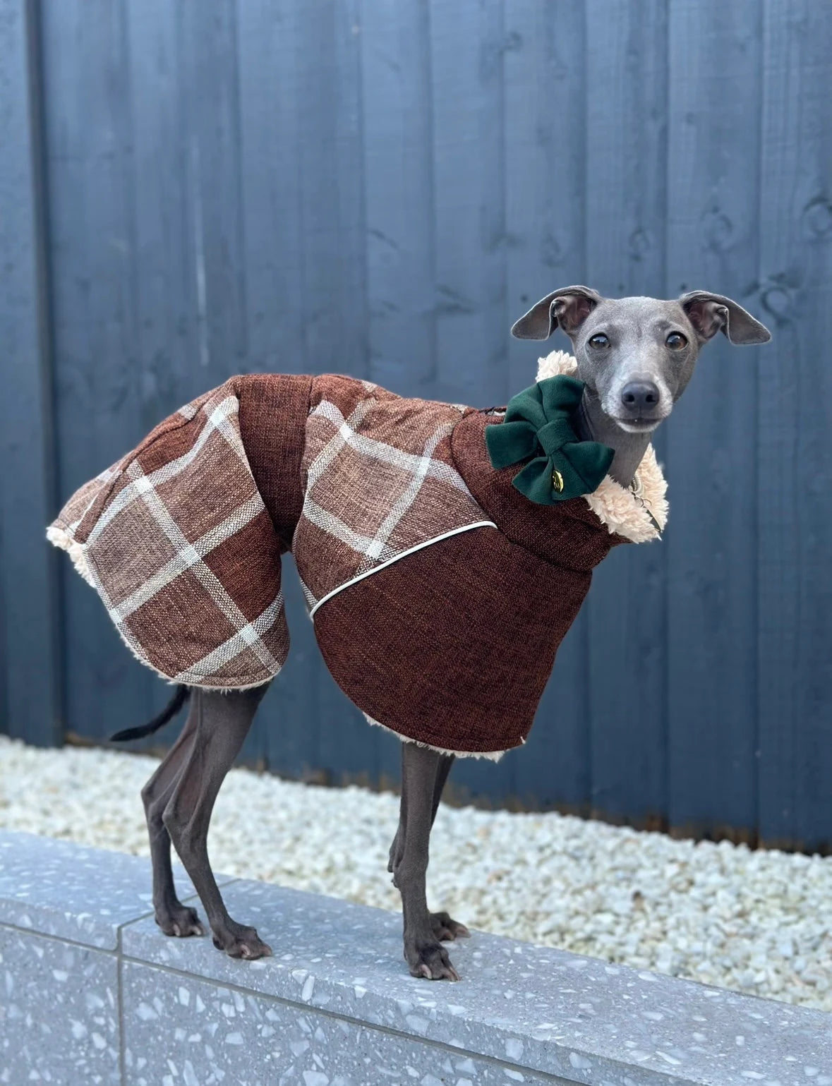
<path id="1" fill-rule="evenodd" d="M 821 1011 L 477 933 L 430 984 L 398 914 L 225 880 L 275 950 L 237 962 L 149 891 L 147 860 L 0 833 L 0 1083 L 832 1086 Z"/>

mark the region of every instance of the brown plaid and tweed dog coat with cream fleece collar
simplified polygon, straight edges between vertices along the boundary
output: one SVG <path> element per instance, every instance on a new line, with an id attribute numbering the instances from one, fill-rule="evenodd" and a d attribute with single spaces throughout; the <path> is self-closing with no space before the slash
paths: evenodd
<path id="1" fill-rule="evenodd" d="M 646 498 L 607 478 L 533 505 L 490 465 L 499 422 L 349 377 L 235 377 L 81 487 L 48 535 L 138 659 L 214 689 L 286 661 L 291 551 L 326 662 L 369 720 L 499 756 L 525 742 L 592 568 L 655 538 L 645 504 L 665 515 L 652 452 Z"/>

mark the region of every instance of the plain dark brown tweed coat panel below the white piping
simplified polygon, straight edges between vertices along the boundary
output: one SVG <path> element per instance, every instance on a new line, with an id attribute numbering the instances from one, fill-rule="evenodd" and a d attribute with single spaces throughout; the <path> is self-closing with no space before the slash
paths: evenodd
<path id="1" fill-rule="evenodd" d="M 315 633 L 336 682 L 373 720 L 445 750 L 507 750 L 526 741 L 589 584 L 590 573 L 477 528 L 339 593 Z"/>

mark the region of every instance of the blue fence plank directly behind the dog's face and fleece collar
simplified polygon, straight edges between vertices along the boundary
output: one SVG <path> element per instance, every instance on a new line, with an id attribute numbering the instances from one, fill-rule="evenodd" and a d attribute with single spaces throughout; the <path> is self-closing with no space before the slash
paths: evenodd
<path id="1" fill-rule="evenodd" d="M 589 0 L 585 13 L 588 280 L 613 298 L 661 298 L 667 4 Z M 648 824 L 666 809 L 665 556 L 664 543 L 618 547 L 588 604 L 592 810 Z"/>

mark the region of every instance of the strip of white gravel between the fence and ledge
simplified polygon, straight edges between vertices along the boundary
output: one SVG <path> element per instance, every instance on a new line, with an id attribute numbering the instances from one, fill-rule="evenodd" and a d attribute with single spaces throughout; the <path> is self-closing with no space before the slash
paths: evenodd
<path id="1" fill-rule="evenodd" d="M 0 828 L 148 855 L 156 759 L 0 736 Z M 243 769 L 211 826 L 217 871 L 387 909 L 398 799 Z M 440 809 L 433 908 L 483 931 L 832 1011 L 832 857 L 694 844 L 556 813 Z"/>

